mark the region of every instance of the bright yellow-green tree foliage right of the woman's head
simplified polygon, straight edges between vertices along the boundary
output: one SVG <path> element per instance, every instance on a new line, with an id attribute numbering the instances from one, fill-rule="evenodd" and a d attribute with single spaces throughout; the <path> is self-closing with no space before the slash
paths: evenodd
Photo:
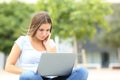
<path id="1" fill-rule="evenodd" d="M 50 13 L 55 35 L 77 39 L 92 37 L 95 23 L 109 29 L 105 16 L 112 12 L 110 4 L 102 0 L 39 0 L 36 9 Z"/>

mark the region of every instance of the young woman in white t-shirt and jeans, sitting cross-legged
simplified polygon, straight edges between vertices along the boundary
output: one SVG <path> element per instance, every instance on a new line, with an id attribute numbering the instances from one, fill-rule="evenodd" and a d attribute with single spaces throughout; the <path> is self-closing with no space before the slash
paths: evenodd
<path id="1" fill-rule="evenodd" d="M 32 18 L 28 33 L 20 36 L 8 56 L 5 70 L 20 74 L 19 80 L 87 80 L 85 68 L 73 70 L 69 76 L 49 78 L 36 73 L 41 54 L 55 53 L 56 46 L 50 39 L 52 21 L 47 12 L 39 12 Z"/>

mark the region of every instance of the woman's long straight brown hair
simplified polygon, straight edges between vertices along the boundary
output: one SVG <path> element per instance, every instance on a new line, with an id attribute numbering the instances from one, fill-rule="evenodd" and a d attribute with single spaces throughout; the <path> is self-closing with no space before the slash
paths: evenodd
<path id="1" fill-rule="evenodd" d="M 36 34 L 38 28 L 42 24 L 46 24 L 46 23 L 49 23 L 52 25 L 51 18 L 47 12 L 42 11 L 42 12 L 35 14 L 31 20 L 31 24 L 28 29 L 28 35 L 33 37 Z M 51 30 L 52 30 L 52 26 L 51 26 L 50 32 Z"/>

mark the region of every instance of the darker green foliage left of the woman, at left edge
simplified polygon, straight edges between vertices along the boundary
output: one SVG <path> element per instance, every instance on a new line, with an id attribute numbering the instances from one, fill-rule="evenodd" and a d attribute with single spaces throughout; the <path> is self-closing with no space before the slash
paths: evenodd
<path id="1" fill-rule="evenodd" d="M 33 11 L 25 3 L 0 3 L 0 51 L 9 54 L 14 41 L 28 26 Z"/>

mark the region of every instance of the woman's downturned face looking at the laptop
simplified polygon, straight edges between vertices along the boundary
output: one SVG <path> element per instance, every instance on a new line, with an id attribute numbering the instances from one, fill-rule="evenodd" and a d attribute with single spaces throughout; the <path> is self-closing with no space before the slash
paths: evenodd
<path id="1" fill-rule="evenodd" d="M 49 34 L 50 34 L 50 29 L 51 29 L 51 24 L 47 23 L 47 24 L 42 24 L 36 34 L 35 37 L 39 40 L 45 40 Z"/>

